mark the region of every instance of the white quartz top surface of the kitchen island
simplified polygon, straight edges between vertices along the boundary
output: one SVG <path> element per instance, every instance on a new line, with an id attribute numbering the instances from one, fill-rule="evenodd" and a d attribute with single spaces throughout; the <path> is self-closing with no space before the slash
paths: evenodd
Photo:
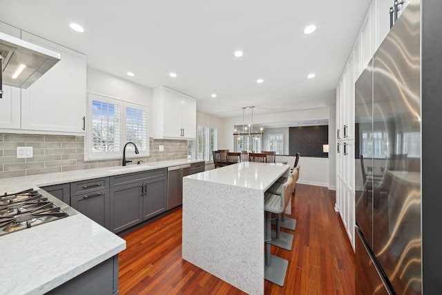
<path id="1" fill-rule="evenodd" d="M 186 178 L 265 191 L 289 169 L 290 166 L 287 164 L 240 162 L 189 175 Z"/>

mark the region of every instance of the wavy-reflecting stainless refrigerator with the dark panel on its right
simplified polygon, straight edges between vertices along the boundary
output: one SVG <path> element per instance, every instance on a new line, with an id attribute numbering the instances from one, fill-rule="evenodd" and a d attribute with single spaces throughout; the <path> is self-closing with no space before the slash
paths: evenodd
<path id="1" fill-rule="evenodd" d="M 410 1 L 355 84 L 357 294 L 442 294 L 441 3 Z"/>

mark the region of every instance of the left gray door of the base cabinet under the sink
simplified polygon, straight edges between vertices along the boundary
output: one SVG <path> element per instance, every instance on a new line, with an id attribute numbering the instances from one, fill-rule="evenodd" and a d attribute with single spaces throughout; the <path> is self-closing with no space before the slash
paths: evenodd
<path id="1" fill-rule="evenodd" d="M 114 233 L 142 222 L 143 185 L 140 182 L 111 189 L 111 231 Z"/>

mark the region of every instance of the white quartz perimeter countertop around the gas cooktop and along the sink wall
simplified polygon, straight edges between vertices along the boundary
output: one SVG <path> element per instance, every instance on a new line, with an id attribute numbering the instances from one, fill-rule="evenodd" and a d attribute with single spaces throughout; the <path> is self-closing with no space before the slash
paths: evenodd
<path id="1" fill-rule="evenodd" d="M 0 193 L 190 164 L 187 159 L 0 180 Z M 55 197 L 54 197 L 55 198 Z M 81 213 L 0 236 L 0 294 L 44 294 L 126 249 Z"/>

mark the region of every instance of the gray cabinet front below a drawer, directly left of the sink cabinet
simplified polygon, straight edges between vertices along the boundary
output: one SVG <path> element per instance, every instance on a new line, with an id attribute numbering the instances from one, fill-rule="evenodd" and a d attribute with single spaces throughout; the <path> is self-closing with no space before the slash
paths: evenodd
<path id="1" fill-rule="evenodd" d="M 73 196 L 70 198 L 70 205 L 102 227 L 110 229 L 110 198 L 108 189 L 97 191 L 95 193 Z"/>

